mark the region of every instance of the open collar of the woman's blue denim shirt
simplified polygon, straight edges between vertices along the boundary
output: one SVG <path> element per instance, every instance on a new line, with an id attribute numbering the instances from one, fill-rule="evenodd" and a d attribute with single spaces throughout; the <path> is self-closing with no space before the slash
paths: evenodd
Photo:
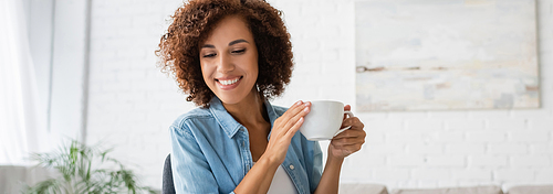
<path id="1" fill-rule="evenodd" d="M 269 100 L 265 99 L 264 105 L 267 107 L 267 112 L 269 115 L 269 120 L 271 121 L 272 128 L 274 120 L 276 120 L 279 116 L 274 111 L 274 108 L 269 103 Z M 225 106 L 222 106 L 221 100 L 217 96 L 213 97 L 209 103 L 209 110 L 215 116 L 215 119 L 217 120 L 217 122 L 219 122 L 219 126 L 221 126 L 221 128 L 225 130 L 225 133 L 227 133 L 229 138 L 234 137 L 240 128 L 244 128 L 240 122 L 234 120 L 234 118 L 227 111 L 227 109 L 225 109 Z"/>

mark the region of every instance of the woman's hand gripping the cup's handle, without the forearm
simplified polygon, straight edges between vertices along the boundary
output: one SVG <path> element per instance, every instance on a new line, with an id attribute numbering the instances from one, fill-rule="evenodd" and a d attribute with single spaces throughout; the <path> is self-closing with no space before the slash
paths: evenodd
<path id="1" fill-rule="evenodd" d="M 349 105 L 344 107 L 344 110 L 351 109 L 352 107 Z M 363 130 L 365 125 L 363 125 L 357 117 L 352 117 L 344 119 L 341 128 L 347 126 L 352 126 L 352 128 L 341 132 L 331 140 L 331 144 L 328 146 L 328 157 L 344 159 L 347 155 L 359 151 L 363 143 L 365 143 L 366 133 L 365 130 Z"/>

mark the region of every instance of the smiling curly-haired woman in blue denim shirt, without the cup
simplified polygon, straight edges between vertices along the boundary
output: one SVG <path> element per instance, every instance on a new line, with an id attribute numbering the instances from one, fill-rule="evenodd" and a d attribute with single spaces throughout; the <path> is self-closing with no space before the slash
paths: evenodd
<path id="1" fill-rule="evenodd" d="M 352 129 L 331 141 L 323 172 L 319 143 L 298 132 L 311 104 L 269 103 L 293 66 L 280 11 L 260 0 L 190 0 L 173 19 L 157 55 L 200 106 L 170 127 L 177 193 L 337 193 L 364 126 L 343 121 Z"/>

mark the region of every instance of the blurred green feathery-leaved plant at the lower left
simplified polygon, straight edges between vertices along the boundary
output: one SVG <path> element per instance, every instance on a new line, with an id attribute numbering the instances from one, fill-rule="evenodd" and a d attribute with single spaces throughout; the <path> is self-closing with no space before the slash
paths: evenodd
<path id="1" fill-rule="evenodd" d="M 107 155 L 111 151 L 72 140 L 59 151 L 33 153 L 31 160 L 40 166 L 55 170 L 60 175 L 25 186 L 23 193 L 156 193 L 150 187 L 140 186 L 133 171 Z"/>

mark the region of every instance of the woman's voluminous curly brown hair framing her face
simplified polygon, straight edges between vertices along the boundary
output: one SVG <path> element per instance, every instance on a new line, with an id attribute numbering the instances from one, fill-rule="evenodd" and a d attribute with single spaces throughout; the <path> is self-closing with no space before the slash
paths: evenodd
<path id="1" fill-rule="evenodd" d="M 281 11 L 261 0 L 189 0 L 171 15 L 173 23 L 160 39 L 158 66 L 189 95 L 187 101 L 208 107 L 215 94 L 201 74 L 199 45 L 228 15 L 242 17 L 252 32 L 259 55 L 255 85 L 260 95 L 268 99 L 280 96 L 292 76 L 292 43 Z"/>

